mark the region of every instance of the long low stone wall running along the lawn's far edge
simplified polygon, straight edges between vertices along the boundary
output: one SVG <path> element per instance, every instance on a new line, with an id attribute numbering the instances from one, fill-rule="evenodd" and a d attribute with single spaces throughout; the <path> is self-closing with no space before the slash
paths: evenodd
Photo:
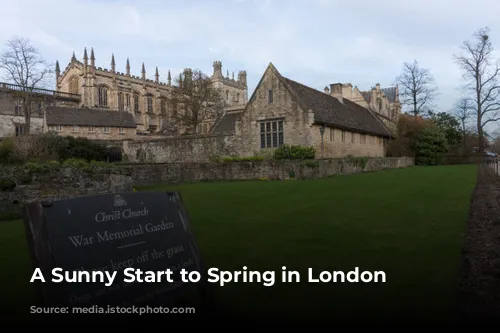
<path id="1" fill-rule="evenodd" d="M 6 219 L 13 212 L 16 215 L 25 203 L 41 198 L 58 200 L 83 195 L 129 192 L 134 186 L 217 180 L 311 179 L 412 165 L 413 158 L 390 157 L 118 164 L 110 168 L 55 168 L 31 173 L 21 168 L 3 167 L 0 169 L 0 218 Z"/>

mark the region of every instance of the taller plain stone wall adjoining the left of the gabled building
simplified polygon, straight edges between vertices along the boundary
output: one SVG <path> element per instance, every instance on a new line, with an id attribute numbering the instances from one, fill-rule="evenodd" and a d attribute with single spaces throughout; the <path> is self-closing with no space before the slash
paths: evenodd
<path id="1" fill-rule="evenodd" d="M 123 156 L 133 163 L 203 163 L 211 156 L 235 155 L 234 142 L 233 136 L 212 134 L 124 141 Z"/>

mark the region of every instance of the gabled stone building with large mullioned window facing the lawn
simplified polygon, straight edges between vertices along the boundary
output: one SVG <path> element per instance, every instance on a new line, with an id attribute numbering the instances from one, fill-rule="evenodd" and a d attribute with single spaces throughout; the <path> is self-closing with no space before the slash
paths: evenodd
<path id="1" fill-rule="evenodd" d="M 243 156 L 283 144 L 313 146 L 318 158 L 384 156 L 391 133 L 361 104 L 283 77 L 269 64 L 244 110 L 219 117 L 214 132 L 233 133 Z"/>

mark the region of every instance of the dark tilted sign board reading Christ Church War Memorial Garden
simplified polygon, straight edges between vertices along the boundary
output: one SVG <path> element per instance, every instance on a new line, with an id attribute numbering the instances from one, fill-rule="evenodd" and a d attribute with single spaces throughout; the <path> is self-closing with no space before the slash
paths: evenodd
<path id="1" fill-rule="evenodd" d="M 204 272 L 178 192 L 39 202 L 28 205 L 26 213 L 28 243 L 34 268 L 45 278 L 39 290 L 48 309 L 118 315 L 203 299 Z M 183 282 L 181 269 L 199 272 L 200 281 Z M 97 282 L 87 282 L 92 277 Z"/>

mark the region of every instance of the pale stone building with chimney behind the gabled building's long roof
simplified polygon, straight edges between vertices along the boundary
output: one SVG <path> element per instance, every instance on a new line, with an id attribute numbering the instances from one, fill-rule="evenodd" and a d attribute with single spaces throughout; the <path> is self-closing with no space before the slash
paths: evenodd
<path id="1" fill-rule="evenodd" d="M 369 91 L 360 91 L 350 83 L 330 84 L 330 88 L 325 87 L 326 94 L 330 94 L 339 99 L 348 99 L 365 108 L 373 111 L 377 117 L 391 130 L 396 129 L 399 116 L 401 114 L 401 103 L 399 101 L 398 87 L 380 88 L 377 83 Z"/>

